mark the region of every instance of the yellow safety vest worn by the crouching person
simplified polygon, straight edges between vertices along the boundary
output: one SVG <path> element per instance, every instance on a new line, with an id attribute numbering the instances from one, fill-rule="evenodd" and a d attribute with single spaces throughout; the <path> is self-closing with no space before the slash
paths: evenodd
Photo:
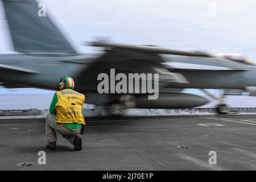
<path id="1" fill-rule="evenodd" d="M 57 104 L 56 122 L 57 123 L 79 123 L 85 124 L 84 116 L 82 115 L 82 105 L 84 104 L 85 96 L 72 89 L 64 89 L 56 92 Z"/>

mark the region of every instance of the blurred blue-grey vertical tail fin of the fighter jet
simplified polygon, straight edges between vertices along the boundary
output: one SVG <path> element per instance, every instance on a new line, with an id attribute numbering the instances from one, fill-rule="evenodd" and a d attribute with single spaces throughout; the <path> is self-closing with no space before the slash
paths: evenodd
<path id="1" fill-rule="evenodd" d="M 2 0 L 15 51 L 29 54 L 77 52 L 46 16 L 39 16 L 35 0 Z"/>

